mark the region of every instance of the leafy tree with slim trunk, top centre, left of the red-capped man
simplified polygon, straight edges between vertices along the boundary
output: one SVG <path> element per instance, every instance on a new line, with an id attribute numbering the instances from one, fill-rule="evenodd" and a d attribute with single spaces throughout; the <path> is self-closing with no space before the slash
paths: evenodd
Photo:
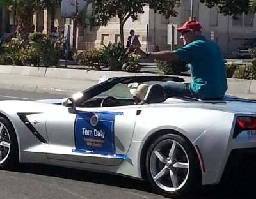
<path id="1" fill-rule="evenodd" d="M 163 14 L 166 18 L 176 16 L 175 6 L 180 0 L 93 0 L 95 11 L 95 25 L 106 26 L 112 17 L 118 17 L 120 39 L 124 45 L 124 24 L 129 18 L 136 20 L 139 13 L 144 13 L 144 6 L 149 5 L 155 12 Z"/>

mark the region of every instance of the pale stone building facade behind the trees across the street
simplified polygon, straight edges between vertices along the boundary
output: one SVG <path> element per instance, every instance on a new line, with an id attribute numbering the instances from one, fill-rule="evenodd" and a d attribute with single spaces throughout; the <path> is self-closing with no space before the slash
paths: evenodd
<path id="1" fill-rule="evenodd" d="M 176 24 L 181 26 L 189 20 L 191 0 L 180 0 L 180 7 L 177 8 L 177 17 L 170 17 L 166 19 L 163 15 L 154 13 L 148 6 L 145 6 L 145 12 L 138 15 L 138 20 L 129 18 L 124 26 L 124 40 L 127 40 L 129 31 L 134 29 L 136 35 L 145 49 L 148 39 L 148 50 L 154 50 L 156 46 L 160 50 L 170 49 L 167 44 L 168 39 L 168 24 Z M 12 14 L 6 9 L 0 10 L 0 36 L 12 32 L 13 19 Z M 214 39 L 225 55 L 231 55 L 236 51 L 237 47 L 241 47 L 251 38 L 256 38 L 256 18 L 255 15 L 241 15 L 237 16 L 237 20 L 230 16 L 220 15 L 217 8 L 207 8 L 199 0 L 195 0 L 193 18 L 198 20 L 202 25 L 203 34 L 207 38 Z M 45 34 L 51 33 L 51 15 L 49 11 L 44 10 L 36 13 L 33 18 L 35 24 L 35 31 L 42 31 Z M 56 10 L 54 16 L 54 26 L 58 27 L 61 33 L 64 30 L 65 24 L 71 24 L 72 20 L 63 20 L 61 18 L 61 10 Z M 77 49 L 94 49 L 100 48 L 103 44 L 109 42 L 120 41 L 118 18 L 114 17 L 106 27 L 99 27 L 94 30 L 84 29 L 79 27 L 77 29 Z M 148 34 L 147 34 L 148 30 Z M 72 33 L 72 31 L 71 31 Z M 180 43 L 178 34 L 178 46 Z"/>

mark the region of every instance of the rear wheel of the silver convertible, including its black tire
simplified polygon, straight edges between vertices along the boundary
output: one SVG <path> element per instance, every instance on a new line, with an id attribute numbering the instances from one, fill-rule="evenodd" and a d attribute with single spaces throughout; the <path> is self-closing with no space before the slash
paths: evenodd
<path id="1" fill-rule="evenodd" d="M 172 146 L 175 152 L 171 152 Z M 173 154 L 172 158 L 170 154 Z M 166 159 L 160 161 L 161 157 Z M 178 162 L 184 163 L 188 168 L 181 168 Z M 145 166 L 152 188 L 156 193 L 167 197 L 191 198 L 202 184 L 202 172 L 196 151 L 193 145 L 180 135 L 166 134 L 157 138 L 148 148 Z M 160 174 L 160 171 L 164 171 L 164 174 Z"/>

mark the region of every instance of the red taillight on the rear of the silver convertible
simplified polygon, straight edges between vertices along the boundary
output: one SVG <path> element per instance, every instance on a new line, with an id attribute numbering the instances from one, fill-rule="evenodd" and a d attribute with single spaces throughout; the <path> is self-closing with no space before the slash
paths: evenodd
<path id="1" fill-rule="evenodd" d="M 241 131 L 256 130 L 256 117 L 237 117 L 233 138 Z"/>

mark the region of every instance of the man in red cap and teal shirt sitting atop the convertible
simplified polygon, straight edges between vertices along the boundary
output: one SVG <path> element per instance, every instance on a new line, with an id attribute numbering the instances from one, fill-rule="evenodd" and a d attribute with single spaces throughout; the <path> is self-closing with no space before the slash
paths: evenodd
<path id="1" fill-rule="evenodd" d="M 227 91 L 227 77 L 220 48 L 213 41 L 202 36 L 202 27 L 196 20 L 186 22 L 177 30 L 184 47 L 170 51 L 143 52 L 138 54 L 161 61 L 186 61 L 191 70 L 192 82 L 164 82 L 167 97 L 188 96 L 199 99 L 221 99 Z"/>

